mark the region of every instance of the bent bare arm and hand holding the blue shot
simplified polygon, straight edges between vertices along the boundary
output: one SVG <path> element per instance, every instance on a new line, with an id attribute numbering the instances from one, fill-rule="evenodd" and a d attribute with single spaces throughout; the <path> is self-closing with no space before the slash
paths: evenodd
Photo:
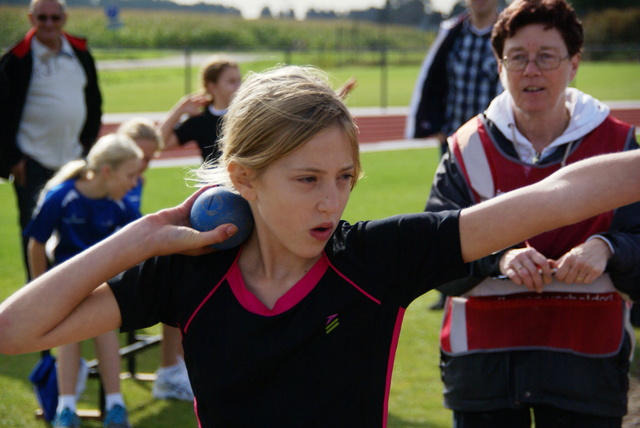
<path id="1" fill-rule="evenodd" d="M 209 245 L 235 233 L 230 224 L 202 233 L 187 227 L 200 192 L 129 224 L 9 297 L 0 305 L 0 353 L 48 349 L 119 327 L 118 305 L 105 281 L 153 256 L 212 251 Z"/>

